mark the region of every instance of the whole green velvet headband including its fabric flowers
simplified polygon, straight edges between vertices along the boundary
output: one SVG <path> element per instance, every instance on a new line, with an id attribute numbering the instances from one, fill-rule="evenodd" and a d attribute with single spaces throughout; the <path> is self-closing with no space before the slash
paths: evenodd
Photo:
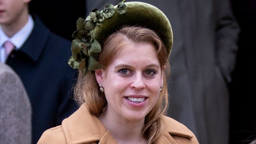
<path id="1" fill-rule="evenodd" d="M 164 42 L 170 56 L 173 35 L 165 14 L 144 2 L 124 1 L 116 6 L 108 4 L 101 11 L 94 9 L 85 20 L 77 20 L 77 30 L 72 35 L 75 38 L 71 46 L 72 56 L 68 60 L 72 68 L 81 70 L 83 74 L 101 68 L 97 62 L 101 46 L 110 34 L 123 25 L 138 25 L 154 30 Z"/>

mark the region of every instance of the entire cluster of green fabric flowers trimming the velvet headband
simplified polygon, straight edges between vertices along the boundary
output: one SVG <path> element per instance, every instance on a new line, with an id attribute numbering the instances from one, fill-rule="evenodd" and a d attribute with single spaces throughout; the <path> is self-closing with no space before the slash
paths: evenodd
<path id="1" fill-rule="evenodd" d="M 87 74 L 89 71 L 101 68 L 97 62 L 98 53 L 101 51 L 100 43 L 92 38 L 91 33 L 95 26 L 100 26 L 104 18 L 110 18 L 117 11 L 119 14 L 126 13 L 126 5 L 123 0 L 116 8 L 112 4 L 107 4 L 103 10 L 92 10 L 84 20 L 78 18 L 76 22 L 77 30 L 73 33 L 71 44 L 72 56 L 68 59 L 68 64 Z"/>

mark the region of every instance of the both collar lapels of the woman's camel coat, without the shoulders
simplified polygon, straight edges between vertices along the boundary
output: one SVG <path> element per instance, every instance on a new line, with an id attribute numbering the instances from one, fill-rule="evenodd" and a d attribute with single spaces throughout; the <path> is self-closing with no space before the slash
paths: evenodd
<path id="1" fill-rule="evenodd" d="M 158 144 L 162 142 L 166 143 L 166 140 L 170 144 L 176 144 L 171 135 L 182 136 L 186 138 L 192 138 L 192 132 L 176 120 L 164 116 L 165 128 L 164 133 L 158 140 Z M 99 142 L 99 144 L 117 144 L 112 135 L 102 125 L 100 120 L 96 116 L 92 116 L 85 104 L 74 112 L 69 118 L 62 121 L 62 127 L 70 144 L 89 144 L 93 142 Z"/>

